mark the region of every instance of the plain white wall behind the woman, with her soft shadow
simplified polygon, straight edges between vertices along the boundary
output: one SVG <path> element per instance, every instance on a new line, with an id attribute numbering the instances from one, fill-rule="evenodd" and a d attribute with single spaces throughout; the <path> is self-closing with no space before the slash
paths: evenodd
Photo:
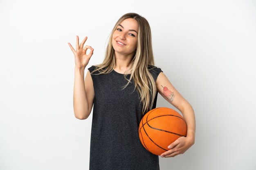
<path id="1" fill-rule="evenodd" d="M 168 3 L 167 3 L 168 2 Z M 146 17 L 156 65 L 195 110 L 195 144 L 161 170 L 255 170 L 254 0 L 1 0 L 0 169 L 86 170 L 92 115 L 73 113 L 76 35 L 103 60 L 121 15 Z M 87 67 L 88 68 L 88 67 Z M 172 107 L 159 95 L 157 107 Z"/>

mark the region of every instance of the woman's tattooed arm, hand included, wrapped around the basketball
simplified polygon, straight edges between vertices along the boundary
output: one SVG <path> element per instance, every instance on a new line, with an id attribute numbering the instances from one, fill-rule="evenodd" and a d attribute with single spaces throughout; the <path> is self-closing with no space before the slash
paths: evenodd
<path id="1" fill-rule="evenodd" d="M 184 153 L 195 142 L 195 113 L 189 102 L 173 87 L 163 72 L 158 75 L 156 85 L 157 91 L 182 113 L 187 125 L 186 137 L 178 138 L 169 145 L 170 150 L 161 155 L 161 157 L 174 157 Z"/>

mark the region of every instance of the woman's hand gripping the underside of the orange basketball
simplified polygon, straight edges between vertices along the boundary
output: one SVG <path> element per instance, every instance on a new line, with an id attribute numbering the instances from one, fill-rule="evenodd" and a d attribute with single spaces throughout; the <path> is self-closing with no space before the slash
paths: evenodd
<path id="1" fill-rule="evenodd" d="M 170 150 L 162 153 L 161 157 L 175 157 L 176 155 L 183 154 L 194 144 L 194 139 L 189 137 L 179 137 L 172 144 L 168 146 Z"/>

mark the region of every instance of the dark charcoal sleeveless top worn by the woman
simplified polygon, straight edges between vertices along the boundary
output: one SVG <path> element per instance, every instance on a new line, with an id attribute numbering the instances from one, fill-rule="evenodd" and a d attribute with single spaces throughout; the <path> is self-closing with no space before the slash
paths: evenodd
<path id="1" fill-rule="evenodd" d="M 90 72 L 95 66 L 88 68 Z M 162 70 L 148 67 L 156 81 Z M 90 170 L 159 170 L 159 157 L 141 144 L 139 123 L 144 116 L 139 93 L 124 74 L 115 70 L 108 74 L 91 74 L 94 87 Z M 127 75 L 130 78 L 130 74 Z M 157 102 L 154 99 L 154 109 Z"/>

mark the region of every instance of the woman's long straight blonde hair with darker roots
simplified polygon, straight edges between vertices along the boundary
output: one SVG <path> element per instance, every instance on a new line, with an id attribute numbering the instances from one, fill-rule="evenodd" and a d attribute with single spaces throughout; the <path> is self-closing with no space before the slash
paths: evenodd
<path id="1" fill-rule="evenodd" d="M 148 21 L 144 17 L 138 15 L 137 13 L 127 13 L 120 17 L 112 29 L 103 63 L 95 65 L 97 69 L 93 72 L 99 71 L 99 74 L 107 74 L 112 72 L 114 69 L 115 50 L 112 47 L 112 35 L 117 29 L 117 26 L 127 18 L 133 18 L 137 21 L 139 31 L 137 50 L 135 50 L 130 61 L 130 67 L 126 71 L 126 73 L 130 72 L 130 78 L 126 78 L 127 74 L 124 74 L 124 77 L 126 80 L 128 80 L 128 83 L 124 86 L 124 88 L 127 87 L 131 80 L 134 82 L 135 88 L 139 92 L 139 96 L 143 104 L 144 114 L 152 109 L 156 95 L 155 81 L 148 70 L 149 65 L 155 65 L 151 41 L 151 31 Z"/>

